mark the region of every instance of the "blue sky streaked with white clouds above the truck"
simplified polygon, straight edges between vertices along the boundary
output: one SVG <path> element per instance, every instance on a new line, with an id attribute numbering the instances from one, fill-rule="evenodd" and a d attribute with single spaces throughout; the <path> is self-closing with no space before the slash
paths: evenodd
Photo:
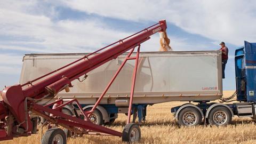
<path id="1" fill-rule="evenodd" d="M 19 82 L 29 53 L 92 52 L 167 21 L 174 51 L 229 49 L 223 90 L 235 90 L 234 52 L 256 40 L 256 1 L 0 1 L 0 87 Z M 158 51 L 159 35 L 141 45 Z"/>

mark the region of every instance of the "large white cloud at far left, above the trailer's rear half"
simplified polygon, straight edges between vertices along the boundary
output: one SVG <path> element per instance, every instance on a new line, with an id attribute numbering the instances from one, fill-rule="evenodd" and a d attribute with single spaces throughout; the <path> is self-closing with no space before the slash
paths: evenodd
<path id="1" fill-rule="evenodd" d="M 24 5 L 23 9 L 19 5 L 4 6 L 7 9 L 0 8 L 0 36 L 11 39 L 0 39 L 0 42 L 5 43 L 0 49 L 27 50 L 26 46 L 29 49 L 35 46 L 30 51 L 88 52 L 129 35 L 106 28 L 101 21 L 95 19 L 52 21 L 46 15 L 25 11 L 28 6 L 37 7 L 36 3 Z"/>

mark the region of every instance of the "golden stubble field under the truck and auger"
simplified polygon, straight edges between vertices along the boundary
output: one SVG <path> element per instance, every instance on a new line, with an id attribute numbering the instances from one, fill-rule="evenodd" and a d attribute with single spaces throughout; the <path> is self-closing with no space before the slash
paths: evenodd
<path id="1" fill-rule="evenodd" d="M 234 91 L 225 91 L 224 97 Z M 170 109 L 182 102 L 166 102 L 148 106 L 146 123 L 140 126 L 142 138 L 139 143 L 256 143 L 256 126 L 251 118 L 234 117 L 228 126 L 195 126 L 179 127 Z M 111 129 L 122 131 L 126 116 L 118 115 Z M 31 137 L 15 138 L 2 141 L 1 144 L 37 144 L 41 141 L 41 133 Z M 80 138 L 68 139 L 68 143 L 123 143 L 122 138 L 109 136 L 84 135 Z"/>

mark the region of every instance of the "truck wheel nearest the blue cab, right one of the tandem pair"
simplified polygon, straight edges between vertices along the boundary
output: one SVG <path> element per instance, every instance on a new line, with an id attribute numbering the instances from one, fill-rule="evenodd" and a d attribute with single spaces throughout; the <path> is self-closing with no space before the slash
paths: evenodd
<path id="1" fill-rule="evenodd" d="M 231 113 L 228 108 L 217 106 L 210 111 L 208 122 L 210 125 L 228 125 L 231 123 Z"/>

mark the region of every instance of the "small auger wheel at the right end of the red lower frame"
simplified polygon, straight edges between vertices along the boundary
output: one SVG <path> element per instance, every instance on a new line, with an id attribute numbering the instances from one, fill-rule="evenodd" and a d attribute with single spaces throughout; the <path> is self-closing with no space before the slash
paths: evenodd
<path id="1" fill-rule="evenodd" d="M 138 124 L 126 124 L 123 130 L 122 141 L 138 142 L 141 138 L 140 127 Z"/>

